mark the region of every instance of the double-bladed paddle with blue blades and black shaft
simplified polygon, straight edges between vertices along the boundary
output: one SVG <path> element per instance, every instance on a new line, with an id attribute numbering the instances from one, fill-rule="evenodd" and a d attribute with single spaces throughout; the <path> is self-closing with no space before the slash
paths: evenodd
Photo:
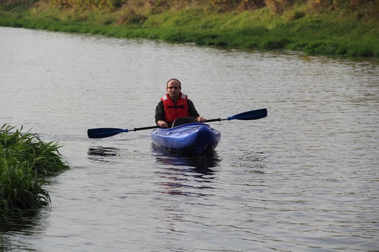
<path id="1" fill-rule="evenodd" d="M 228 118 L 217 118 L 217 119 L 210 119 L 207 120 L 208 122 L 216 122 L 216 121 L 224 121 L 224 120 L 257 120 L 261 119 L 267 116 L 267 109 L 260 109 L 260 110 L 252 110 L 248 112 L 244 112 L 241 114 L 237 114 L 234 116 L 230 116 Z M 88 129 L 87 134 L 89 138 L 104 138 L 109 136 L 114 136 L 122 132 L 129 132 L 129 131 L 137 131 L 137 130 L 144 130 L 144 129 L 156 129 L 160 128 L 159 126 L 150 126 L 150 127 L 143 127 L 143 128 L 134 128 L 134 129 L 118 129 L 118 128 L 96 128 L 96 129 Z"/>

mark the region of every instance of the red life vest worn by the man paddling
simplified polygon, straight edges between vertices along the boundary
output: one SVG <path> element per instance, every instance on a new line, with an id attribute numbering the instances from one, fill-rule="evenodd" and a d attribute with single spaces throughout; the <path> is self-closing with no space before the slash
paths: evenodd
<path id="1" fill-rule="evenodd" d="M 162 98 L 163 106 L 165 109 L 165 121 L 166 123 L 172 123 L 176 118 L 189 116 L 187 95 L 185 93 L 179 93 L 179 98 L 176 101 L 176 105 L 166 93 Z"/>

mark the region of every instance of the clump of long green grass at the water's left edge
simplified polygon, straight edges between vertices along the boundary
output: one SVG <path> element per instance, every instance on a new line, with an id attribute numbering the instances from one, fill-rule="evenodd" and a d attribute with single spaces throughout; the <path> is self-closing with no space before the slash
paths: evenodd
<path id="1" fill-rule="evenodd" d="M 51 202 L 45 178 L 69 169 L 56 142 L 43 142 L 37 134 L 22 134 L 7 124 L 0 129 L 0 219 Z"/>

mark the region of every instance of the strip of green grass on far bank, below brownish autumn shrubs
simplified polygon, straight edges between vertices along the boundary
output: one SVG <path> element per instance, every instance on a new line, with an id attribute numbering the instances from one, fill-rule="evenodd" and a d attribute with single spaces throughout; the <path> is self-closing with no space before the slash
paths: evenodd
<path id="1" fill-rule="evenodd" d="M 188 7 L 146 14 L 123 8 L 61 10 L 46 5 L 0 5 L 0 25 L 204 46 L 379 58 L 379 19 L 362 18 L 346 10 L 312 12 L 304 4 L 280 15 L 272 14 L 267 7 L 239 13 Z"/>

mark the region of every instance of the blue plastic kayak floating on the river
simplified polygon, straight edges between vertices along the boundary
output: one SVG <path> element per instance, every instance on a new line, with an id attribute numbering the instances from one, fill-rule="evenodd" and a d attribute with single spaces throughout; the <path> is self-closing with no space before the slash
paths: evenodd
<path id="1" fill-rule="evenodd" d="M 176 153 L 203 155 L 213 152 L 221 133 L 205 123 L 188 123 L 151 132 L 153 143 Z"/>

